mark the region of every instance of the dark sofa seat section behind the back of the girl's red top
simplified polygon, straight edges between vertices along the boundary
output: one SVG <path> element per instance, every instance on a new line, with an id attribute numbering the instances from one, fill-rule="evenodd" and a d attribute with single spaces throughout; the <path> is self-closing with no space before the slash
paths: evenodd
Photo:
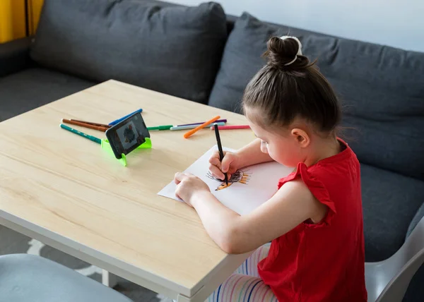
<path id="1" fill-rule="evenodd" d="M 409 224 L 423 204 L 424 181 L 367 164 L 360 169 L 365 260 L 384 260 L 404 243 Z"/>

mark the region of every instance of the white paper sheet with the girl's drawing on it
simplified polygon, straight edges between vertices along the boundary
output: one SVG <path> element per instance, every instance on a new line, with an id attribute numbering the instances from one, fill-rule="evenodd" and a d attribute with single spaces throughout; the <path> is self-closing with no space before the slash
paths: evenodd
<path id="1" fill-rule="evenodd" d="M 218 150 L 216 145 L 197 159 L 185 172 L 198 176 L 209 186 L 213 195 L 221 203 L 240 215 L 252 212 L 256 207 L 269 200 L 277 191 L 278 179 L 293 171 L 293 168 L 284 167 L 277 162 L 256 164 L 240 169 L 237 179 L 232 176 L 228 181 L 229 186 L 224 188 L 225 182 L 212 179 L 208 174 L 208 161 L 214 150 Z M 224 148 L 224 150 L 232 151 L 228 148 Z M 174 181 L 171 181 L 158 195 L 182 201 L 175 196 L 175 188 Z"/>

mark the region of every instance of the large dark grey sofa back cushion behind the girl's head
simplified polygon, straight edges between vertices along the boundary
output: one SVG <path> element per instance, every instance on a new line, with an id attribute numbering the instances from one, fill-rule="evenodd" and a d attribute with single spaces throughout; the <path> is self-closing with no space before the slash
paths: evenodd
<path id="1" fill-rule="evenodd" d="M 360 162 L 424 180 L 424 53 L 262 23 L 243 13 L 225 45 L 209 104 L 238 111 L 271 35 L 295 35 L 343 103 Z"/>

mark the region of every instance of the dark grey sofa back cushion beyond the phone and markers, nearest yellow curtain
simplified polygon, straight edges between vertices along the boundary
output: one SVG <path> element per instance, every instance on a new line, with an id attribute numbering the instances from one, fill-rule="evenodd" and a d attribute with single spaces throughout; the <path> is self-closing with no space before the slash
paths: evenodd
<path id="1" fill-rule="evenodd" d="M 45 0 L 30 56 L 95 81 L 206 103 L 227 39 L 223 8 L 131 0 Z"/>

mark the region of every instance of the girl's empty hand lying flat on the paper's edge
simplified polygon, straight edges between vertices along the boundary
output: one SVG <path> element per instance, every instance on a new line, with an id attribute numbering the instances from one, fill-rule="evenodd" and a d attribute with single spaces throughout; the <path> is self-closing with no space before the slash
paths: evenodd
<path id="1" fill-rule="evenodd" d="M 175 194 L 190 207 L 193 207 L 192 198 L 194 193 L 200 193 L 201 191 L 211 192 L 208 185 L 193 174 L 177 172 L 174 176 L 174 181 L 177 183 Z"/>

